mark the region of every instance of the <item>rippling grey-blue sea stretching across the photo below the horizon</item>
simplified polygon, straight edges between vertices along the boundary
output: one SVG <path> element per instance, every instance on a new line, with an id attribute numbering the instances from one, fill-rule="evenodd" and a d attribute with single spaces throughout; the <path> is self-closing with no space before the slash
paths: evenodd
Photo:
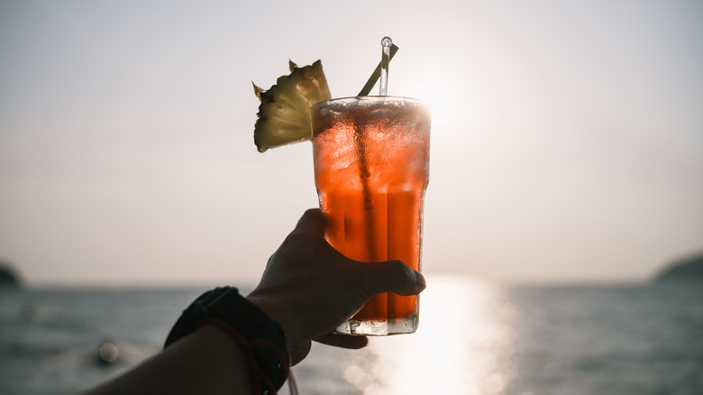
<path id="1" fill-rule="evenodd" d="M 129 369 L 159 352 L 203 290 L 0 289 L 0 394 L 70 394 Z M 703 394 L 701 286 L 431 276 L 420 306 L 413 335 L 355 351 L 315 344 L 293 368 L 299 392 Z"/>

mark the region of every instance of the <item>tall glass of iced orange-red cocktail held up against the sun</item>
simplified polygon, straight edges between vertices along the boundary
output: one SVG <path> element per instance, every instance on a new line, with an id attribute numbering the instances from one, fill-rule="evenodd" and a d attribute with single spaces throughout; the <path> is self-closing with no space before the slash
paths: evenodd
<path id="1" fill-rule="evenodd" d="M 429 153 L 430 111 L 418 100 L 359 96 L 315 105 L 315 185 L 329 243 L 356 261 L 400 260 L 419 271 Z M 417 313 L 416 296 L 388 292 L 337 332 L 409 334 Z"/>

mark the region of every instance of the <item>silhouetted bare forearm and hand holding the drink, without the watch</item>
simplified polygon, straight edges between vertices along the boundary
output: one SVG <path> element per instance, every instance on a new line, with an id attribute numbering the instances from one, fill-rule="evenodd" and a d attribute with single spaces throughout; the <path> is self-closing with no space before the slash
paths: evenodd
<path id="1" fill-rule="evenodd" d="M 334 250 L 324 240 L 322 214 L 313 209 L 270 257 L 247 299 L 283 327 L 295 364 L 305 358 L 313 339 L 351 348 L 365 345 L 365 337 L 331 331 L 371 296 L 386 291 L 412 295 L 424 288 L 422 275 L 402 262 L 366 264 Z M 250 369 L 233 336 L 207 325 L 87 393 L 251 393 Z"/>

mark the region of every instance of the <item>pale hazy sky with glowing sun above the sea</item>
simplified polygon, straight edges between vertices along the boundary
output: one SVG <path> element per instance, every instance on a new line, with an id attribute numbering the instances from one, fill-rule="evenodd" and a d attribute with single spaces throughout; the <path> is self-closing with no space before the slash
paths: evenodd
<path id="1" fill-rule="evenodd" d="M 246 3 L 246 4 L 242 4 Z M 316 207 L 259 153 L 288 60 L 433 106 L 423 271 L 632 282 L 703 251 L 703 3 L 0 2 L 0 260 L 30 285 L 255 281 Z"/>

